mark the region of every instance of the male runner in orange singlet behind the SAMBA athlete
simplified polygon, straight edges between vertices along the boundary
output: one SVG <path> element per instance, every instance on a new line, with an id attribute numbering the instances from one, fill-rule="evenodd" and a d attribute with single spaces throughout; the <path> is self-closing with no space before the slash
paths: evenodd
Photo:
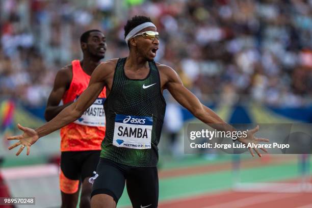
<path id="1" fill-rule="evenodd" d="M 80 42 L 83 60 L 74 60 L 71 65 L 58 71 L 45 111 L 47 121 L 81 95 L 88 87 L 92 72 L 105 56 L 106 37 L 101 31 L 86 31 L 82 34 Z M 105 136 L 105 114 L 102 105 L 105 97 L 103 89 L 93 105 L 79 119 L 61 128 L 62 207 L 76 207 L 80 183 L 80 207 L 90 207 L 92 185 L 88 179 L 96 170 L 101 141 Z M 59 106 L 61 99 L 63 106 Z"/>

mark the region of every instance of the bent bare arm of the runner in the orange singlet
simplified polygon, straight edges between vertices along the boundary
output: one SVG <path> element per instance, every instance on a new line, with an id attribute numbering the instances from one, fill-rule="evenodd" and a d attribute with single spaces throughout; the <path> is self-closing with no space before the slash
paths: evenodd
<path id="1" fill-rule="evenodd" d="M 58 115 L 64 108 L 69 106 L 72 102 L 66 103 L 63 106 L 59 106 L 59 103 L 65 94 L 66 90 L 69 89 L 72 80 L 71 67 L 67 66 L 61 69 L 54 81 L 53 89 L 47 101 L 47 106 L 44 113 L 44 118 L 46 121 L 50 121 L 56 115 Z"/>

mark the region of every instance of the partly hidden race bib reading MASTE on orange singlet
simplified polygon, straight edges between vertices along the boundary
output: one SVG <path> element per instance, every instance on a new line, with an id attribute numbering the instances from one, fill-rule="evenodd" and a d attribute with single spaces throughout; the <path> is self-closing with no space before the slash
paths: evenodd
<path id="1" fill-rule="evenodd" d="M 105 99 L 106 98 L 96 98 L 93 104 L 79 119 L 75 120 L 74 123 L 87 126 L 105 126 L 106 120 L 103 108 Z"/>

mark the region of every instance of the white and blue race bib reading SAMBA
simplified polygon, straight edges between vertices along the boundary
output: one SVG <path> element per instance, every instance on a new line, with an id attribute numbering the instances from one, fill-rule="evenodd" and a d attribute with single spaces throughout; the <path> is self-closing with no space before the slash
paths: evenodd
<path id="1" fill-rule="evenodd" d="M 117 114 L 113 145 L 132 149 L 150 149 L 153 118 Z"/>

